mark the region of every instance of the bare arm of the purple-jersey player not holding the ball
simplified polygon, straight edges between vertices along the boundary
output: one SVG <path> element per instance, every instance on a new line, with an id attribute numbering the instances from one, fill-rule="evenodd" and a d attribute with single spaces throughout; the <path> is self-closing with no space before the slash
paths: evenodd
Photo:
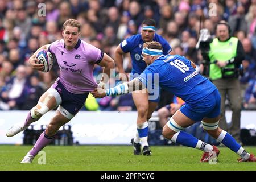
<path id="1" fill-rule="evenodd" d="M 100 87 L 104 88 L 104 85 L 108 82 L 110 78 L 110 69 L 115 68 L 115 63 L 114 63 L 114 60 L 109 55 L 104 53 L 104 56 L 100 61 L 100 63 L 98 63 L 98 65 L 100 65 L 101 67 L 104 67 L 101 81 L 99 84 Z"/>

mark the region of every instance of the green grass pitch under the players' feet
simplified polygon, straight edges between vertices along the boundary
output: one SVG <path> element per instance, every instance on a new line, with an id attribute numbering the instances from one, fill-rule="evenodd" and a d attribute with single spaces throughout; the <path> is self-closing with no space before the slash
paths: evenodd
<path id="1" fill-rule="evenodd" d="M 238 163 L 238 155 L 220 147 L 217 164 L 200 163 L 203 152 L 181 146 L 152 146 L 152 156 L 134 156 L 131 146 L 47 146 L 46 164 L 20 164 L 32 146 L 0 146 L 0 170 L 256 170 L 256 163 Z M 256 147 L 245 149 L 256 154 Z"/>

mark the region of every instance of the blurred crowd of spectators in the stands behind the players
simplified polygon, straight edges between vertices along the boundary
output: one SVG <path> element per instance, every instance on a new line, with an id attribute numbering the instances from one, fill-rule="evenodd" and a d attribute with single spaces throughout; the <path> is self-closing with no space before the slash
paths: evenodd
<path id="1" fill-rule="evenodd" d="M 39 47 L 61 39 L 62 25 L 70 18 L 82 24 L 82 40 L 113 59 L 118 44 L 138 34 L 142 21 L 152 18 L 173 52 L 197 65 L 203 59 L 196 49 L 200 26 L 214 36 L 217 22 L 226 20 L 246 53 L 240 77 L 243 109 L 256 109 L 256 0 L 0 0 L 0 110 L 29 110 L 52 85 L 59 75 L 57 64 L 42 73 L 34 71 L 28 59 Z M 129 55 L 123 64 L 131 71 Z M 96 66 L 95 78 L 101 72 Z M 131 94 L 93 99 L 85 110 L 135 110 Z"/>

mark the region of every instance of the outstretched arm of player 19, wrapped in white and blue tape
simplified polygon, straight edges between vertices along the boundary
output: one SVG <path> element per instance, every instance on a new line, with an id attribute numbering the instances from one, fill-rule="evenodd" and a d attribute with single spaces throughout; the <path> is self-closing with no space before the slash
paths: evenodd
<path id="1" fill-rule="evenodd" d="M 91 93 L 93 97 L 102 98 L 105 96 L 117 96 L 117 95 L 127 94 L 136 90 L 142 90 L 144 88 L 146 88 L 146 86 L 144 86 L 144 84 L 142 84 L 142 82 L 139 81 L 138 78 L 134 78 L 133 80 L 117 85 L 114 88 L 110 88 L 106 90 L 102 88 L 96 88 Z"/>

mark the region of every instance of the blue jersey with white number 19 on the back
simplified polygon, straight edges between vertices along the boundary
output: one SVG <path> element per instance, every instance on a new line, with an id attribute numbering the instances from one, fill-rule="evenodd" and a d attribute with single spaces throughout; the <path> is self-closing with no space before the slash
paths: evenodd
<path id="1" fill-rule="evenodd" d="M 154 74 L 158 75 L 154 75 Z M 155 77 L 159 79 L 155 80 Z M 216 86 L 192 67 L 191 61 L 180 55 L 162 55 L 138 77 L 147 88 L 158 86 L 195 104 L 216 90 Z"/>

